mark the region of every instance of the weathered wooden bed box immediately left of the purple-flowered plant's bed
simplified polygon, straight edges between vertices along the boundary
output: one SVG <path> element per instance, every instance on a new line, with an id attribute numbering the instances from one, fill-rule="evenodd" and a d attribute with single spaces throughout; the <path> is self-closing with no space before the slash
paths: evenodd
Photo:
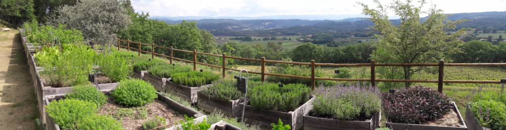
<path id="1" fill-rule="evenodd" d="M 244 122 L 251 125 L 258 124 L 261 128 L 271 129 L 271 123 L 277 124 L 278 119 L 281 119 L 283 124 L 289 124 L 291 129 L 300 129 L 304 125 L 303 116 L 311 110 L 313 100 L 314 96 L 297 109 L 289 112 L 257 110 L 250 105 L 246 105 L 244 110 Z M 242 107 L 242 103 L 240 106 Z M 239 113 L 237 117 L 241 117 L 241 113 Z"/>

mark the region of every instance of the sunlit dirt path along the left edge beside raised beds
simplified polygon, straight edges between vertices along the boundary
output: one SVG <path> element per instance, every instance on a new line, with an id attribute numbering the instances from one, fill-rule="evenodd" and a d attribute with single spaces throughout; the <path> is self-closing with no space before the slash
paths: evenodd
<path id="1" fill-rule="evenodd" d="M 0 32 L 0 129 L 37 129 L 28 71 L 19 31 Z"/>

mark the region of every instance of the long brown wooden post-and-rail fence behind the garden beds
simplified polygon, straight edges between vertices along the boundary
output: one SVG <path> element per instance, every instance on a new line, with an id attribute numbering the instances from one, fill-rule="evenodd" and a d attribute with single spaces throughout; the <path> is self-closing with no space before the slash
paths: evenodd
<path id="1" fill-rule="evenodd" d="M 126 46 L 121 45 L 121 42 L 126 42 Z M 137 44 L 138 48 L 131 48 L 130 44 Z M 150 46 L 151 51 L 144 51 L 141 49 L 141 46 Z M 376 86 L 376 82 L 404 82 L 404 83 L 438 83 L 438 92 L 443 92 L 443 83 L 472 83 L 472 84 L 501 84 L 506 83 L 506 80 L 497 80 L 497 81 L 477 81 L 477 80 L 443 80 L 444 77 L 444 67 L 445 66 L 459 66 L 459 67 L 506 67 L 506 63 L 445 63 L 444 60 L 439 60 L 439 63 L 376 63 L 375 60 L 371 60 L 370 63 L 317 63 L 315 60 L 311 60 L 310 62 L 291 62 L 291 61 L 279 61 L 279 60 L 267 60 L 265 57 L 262 57 L 261 59 L 252 59 L 252 58 L 243 58 L 243 57 L 234 57 L 234 56 L 227 56 L 226 53 L 222 53 L 222 55 L 219 54 L 212 54 L 212 53 L 204 53 L 204 52 L 197 52 L 197 50 L 189 51 L 189 50 L 181 50 L 181 49 L 175 49 L 172 46 L 171 47 L 164 47 L 164 46 L 158 46 L 154 45 L 154 43 L 151 44 L 145 44 L 141 42 L 133 42 L 129 40 L 121 40 L 118 39 L 117 43 L 117 49 L 119 50 L 120 47 L 125 48 L 127 51 L 136 50 L 138 51 L 139 56 L 141 55 L 141 52 L 144 53 L 151 53 L 151 58 L 154 58 L 154 56 L 162 56 L 170 59 L 170 63 L 173 63 L 174 60 L 179 60 L 183 62 L 193 63 L 193 70 L 197 70 L 197 64 L 201 64 L 203 66 L 213 67 L 213 68 L 220 68 L 222 69 L 222 77 L 225 78 L 226 70 L 231 71 L 237 71 L 238 69 L 232 69 L 226 67 L 226 58 L 232 58 L 232 59 L 238 59 L 238 60 L 247 60 L 247 61 L 254 61 L 254 62 L 260 62 L 261 63 L 261 72 L 249 72 L 251 74 L 259 74 L 261 75 L 262 82 L 265 81 L 265 76 L 277 76 L 277 77 L 287 77 L 287 78 L 295 78 L 295 79 L 306 79 L 311 80 L 311 88 L 315 88 L 315 80 L 328 80 L 328 81 L 365 81 L 365 82 L 371 82 L 371 86 Z M 170 50 L 170 55 L 163 55 L 159 53 L 155 53 L 155 48 Z M 174 52 L 183 52 L 183 53 L 191 53 L 193 54 L 193 60 L 187 60 L 187 59 L 181 59 L 177 57 L 173 57 Z M 209 55 L 209 56 L 215 56 L 215 57 L 222 57 L 223 63 L 222 66 L 217 66 L 214 64 L 208 64 L 203 62 L 197 62 L 197 55 Z M 285 64 L 294 64 L 294 65 L 302 65 L 302 66 L 310 66 L 311 67 L 311 77 L 304 77 L 304 76 L 294 76 L 294 75 L 283 75 L 283 74 L 273 74 L 273 73 L 266 73 L 265 72 L 265 64 L 266 63 L 285 63 Z M 376 79 L 376 67 L 438 67 L 438 80 L 401 80 L 401 79 Z M 342 79 L 342 78 L 321 78 L 321 77 L 315 77 L 315 68 L 316 67 L 370 67 L 371 68 L 371 76 L 368 79 Z M 498 78 L 500 79 L 500 78 Z"/>

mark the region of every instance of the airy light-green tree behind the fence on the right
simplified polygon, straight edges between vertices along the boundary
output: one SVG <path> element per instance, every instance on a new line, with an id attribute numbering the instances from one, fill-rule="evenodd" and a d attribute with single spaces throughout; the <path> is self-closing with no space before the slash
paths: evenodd
<path id="1" fill-rule="evenodd" d="M 374 29 L 379 31 L 376 35 L 378 43 L 372 53 L 372 59 L 379 62 L 398 63 L 427 63 L 445 58 L 445 51 L 454 51 L 457 36 L 462 35 L 462 30 L 447 35 L 446 30 L 455 29 L 456 24 L 462 21 L 447 21 L 442 10 L 433 6 L 427 12 L 421 11 L 426 4 L 419 1 L 419 6 L 406 2 L 394 1 L 391 5 L 382 5 L 375 0 L 377 9 L 361 3 L 363 14 L 370 16 L 374 23 Z M 394 12 L 400 17 L 400 25 L 390 22 L 387 12 Z M 423 22 L 420 15 L 427 14 Z M 381 50 L 381 51 L 380 51 Z M 404 79 L 409 80 L 414 72 L 420 71 L 420 67 L 403 67 Z M 410 84 L 405 83 L 408 87 Z"/>

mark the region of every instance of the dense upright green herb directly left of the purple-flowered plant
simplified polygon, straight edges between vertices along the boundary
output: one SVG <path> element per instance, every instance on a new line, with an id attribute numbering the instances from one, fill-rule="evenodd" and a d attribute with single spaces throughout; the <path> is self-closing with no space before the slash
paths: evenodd
<path id="1" fill-rule="evenodd" d="M 309 100 L 311 89 L 303 84 L 287 84 L 282 88 L 278 84 L 264 83 L 249 89 L 249 103 L 256 109 L 291 111 Z"/>

